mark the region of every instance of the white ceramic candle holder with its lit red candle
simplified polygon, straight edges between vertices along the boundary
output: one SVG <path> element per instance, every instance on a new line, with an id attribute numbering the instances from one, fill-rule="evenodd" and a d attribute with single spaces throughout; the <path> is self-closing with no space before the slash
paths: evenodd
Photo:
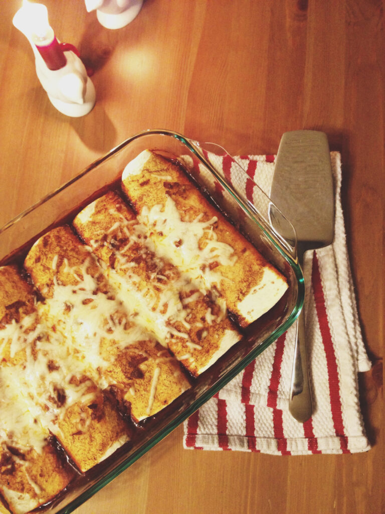
<path id="1" fill-rule="evenodd" d="M 88 114 L 95 104 L 95 88 L 76 48 L 57 41 L 48 23 L 47 8 L 24 2 L 13 17 L 13 25 L 31 44 L 37 78 L 52 105 L 66 116 Z"/>

